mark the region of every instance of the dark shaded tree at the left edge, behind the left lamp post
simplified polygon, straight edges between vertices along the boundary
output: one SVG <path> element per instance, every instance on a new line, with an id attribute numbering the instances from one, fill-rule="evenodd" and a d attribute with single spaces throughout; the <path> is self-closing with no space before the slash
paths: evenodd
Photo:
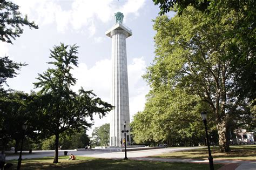
<path id="1" fill-rule="evenodd" d="M 23 136 L 22 125 L 28 124 L 26 135 L 35 137 L 35 129 L 31 126 L 35 115 L 28 110 L 28 105 L 31 104 L 33 97 L 31 95 L 19 92 L 8 91 L 0 97 L 0 134 L 2 146 L 13 139 L 15 140 L 15 152 L 17 152 L 19 141 Z"/>

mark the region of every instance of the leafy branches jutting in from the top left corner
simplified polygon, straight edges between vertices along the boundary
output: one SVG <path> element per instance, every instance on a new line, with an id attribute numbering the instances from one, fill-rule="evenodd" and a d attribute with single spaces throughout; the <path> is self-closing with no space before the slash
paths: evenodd
<path id="1" fill-rule="evenodd" d="M 23 33 L 21 26 L 28 25 L 30 29 L 38 29 L 34 22 L 28 21 L 27 16 L 23 18 L 18 10 L 18 5 L 6 0 L 0 1 L 0 40 L 2 42 L 12 44 L 11 38 L 16 39 Z"/>

